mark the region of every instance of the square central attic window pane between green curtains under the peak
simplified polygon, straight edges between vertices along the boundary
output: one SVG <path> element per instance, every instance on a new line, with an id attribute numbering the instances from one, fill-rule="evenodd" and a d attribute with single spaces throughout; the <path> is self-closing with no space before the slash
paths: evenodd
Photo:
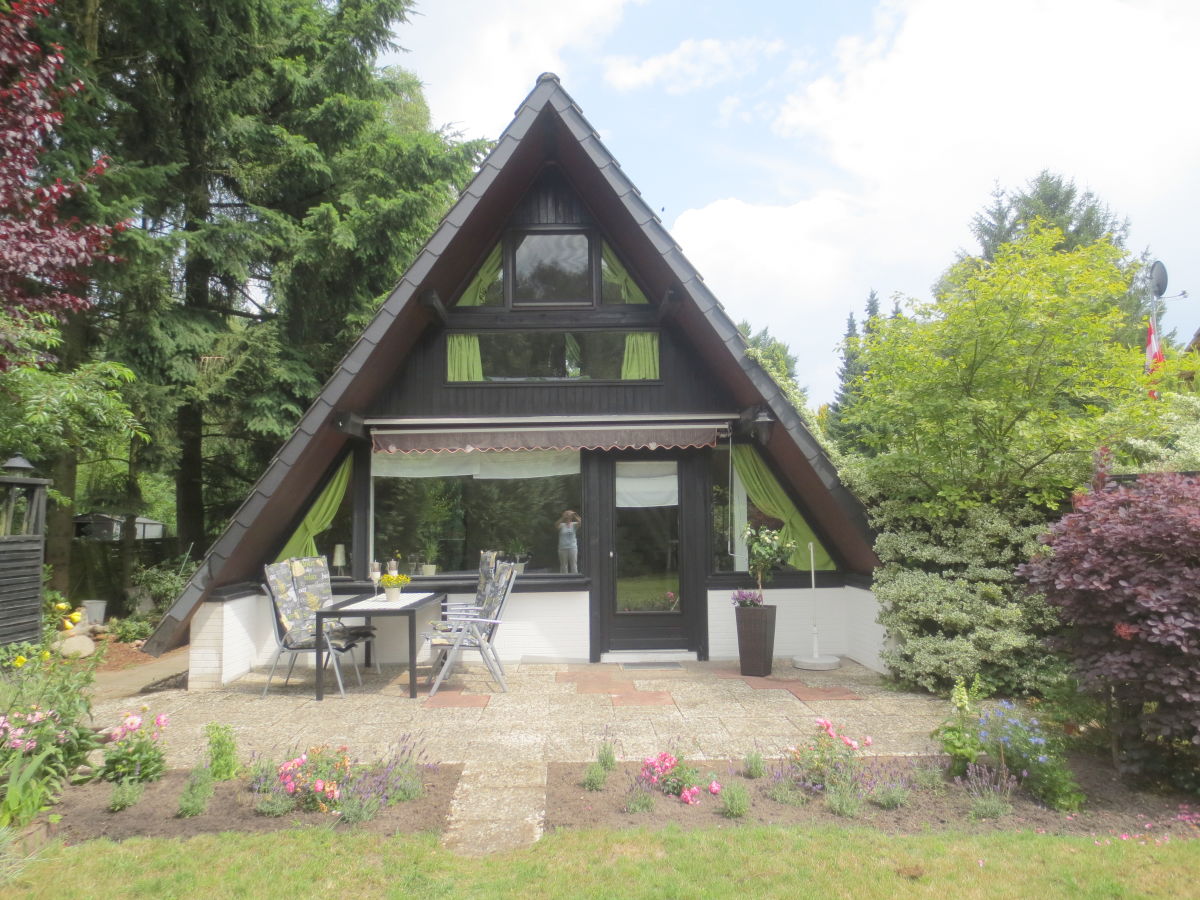
<path id="1" fill-rule="evenodd" d="M 588 235 L 517 234 L 512 244 L 512 304 L 592 305 Z"/>

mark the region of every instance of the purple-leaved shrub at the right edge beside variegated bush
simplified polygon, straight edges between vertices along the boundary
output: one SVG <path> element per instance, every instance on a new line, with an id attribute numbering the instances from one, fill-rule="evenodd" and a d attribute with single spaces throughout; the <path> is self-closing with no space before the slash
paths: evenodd
<path id="1" fill-rule="evenodd" d="M 1058 608 L 1081 686 L 1110 701 L 1115 761 L 1200 784 L 1200 480 L 1100 472 L 1043 542 L 1018 574 Z"/>

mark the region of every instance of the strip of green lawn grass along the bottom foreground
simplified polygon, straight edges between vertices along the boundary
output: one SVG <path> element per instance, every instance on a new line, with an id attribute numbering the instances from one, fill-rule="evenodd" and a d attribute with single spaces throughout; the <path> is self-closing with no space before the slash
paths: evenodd
<path id="1" fill-rule="evenodd" d="M 847 865 L 846 860 L 853 860 Z M 667 862 L 670 860 L 670 862 Z M 294 898 L 330 890 L 425 898 L 1180 896 L 1200 841 L 1163 846 L 1028 833 L 896 836 L 868 829 L 581 830 L 456 857 L 436 835 L 325 828 L 50 846 L 13 898 Z M 66 880 L 62 871 L 86 871 Z"/>

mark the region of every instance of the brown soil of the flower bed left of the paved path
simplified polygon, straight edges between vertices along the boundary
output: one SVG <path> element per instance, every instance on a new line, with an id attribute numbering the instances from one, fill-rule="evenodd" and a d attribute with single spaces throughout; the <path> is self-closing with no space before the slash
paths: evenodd
<path id="1" fill-rule="evenodd" d="M 461 774 L 462 766 L 426 769 L 422 797 L 380 810 L 376 818 L 354 828 L 374 834 L 444 832 L 450 799 Z M 328 828 L 337 822 L 335 816 L 325 812 L 289 812 L 277 818 L 259 815 L 254 811 L 259 796 L 250 790 L 247 779 L 217 784 L 203 815 L 179 818 L 175 811 L 187 775 L 184 770 L 168 772 L 161 780 L 146 785 L 142 799 L 121 812 L 108 810 L 113 791 L 110 784 L 90 782 L 68 787 L 60 803 L 50 810 L 58 820 L 49 826 L 49 833 L 66 844 L 79 844 L 95 838 L 191 838 L 214 832 Z"/>

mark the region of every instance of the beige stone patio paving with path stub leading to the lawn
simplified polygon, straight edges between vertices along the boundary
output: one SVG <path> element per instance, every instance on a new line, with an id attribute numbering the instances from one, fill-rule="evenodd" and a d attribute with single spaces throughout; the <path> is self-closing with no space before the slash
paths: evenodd
<path id="1" fill-rule="evenodd" d="M 937 751 L 929 732 L 947 715 L 944 701 L 898 692 L 848 660 L 830 672 L 776 660 L 768 678 L 742 677 L 737 662 L 684 662 L 678 668 L 610 665 L 510 665 L 509 692 L 486 670 L 468 666 L 434 697 L 408 697 L 407 671 L 384 666 L 347 672 L 347 696 L 313 700 L 312 673 L 287 688 L 276 676 L 263 698 L 265 672 L 220 691 L 166 690 L 94 706 L 97 724 L 149 704 L 170 716 L 168 764 L 194 766 L 204 754 L 204 726 L 232 725 L 244 757 L 284 754 L 319 744 L 347 745 L 373 760 L 418 738 L 428 757 L 463 763 L 463 776 L 444 838 L 449 847 L 487 852 L 521 846 L 541 834 L 546 764 L 588 762 L 610 737 L 623 760 L 671 749 L 695 760 L 775 756 L 812 733 L 812 720 L 832 719 L 850 734 L 870 734 L 877 755 Z M 353 686 L 350 686 L 353 685 Z"/>

